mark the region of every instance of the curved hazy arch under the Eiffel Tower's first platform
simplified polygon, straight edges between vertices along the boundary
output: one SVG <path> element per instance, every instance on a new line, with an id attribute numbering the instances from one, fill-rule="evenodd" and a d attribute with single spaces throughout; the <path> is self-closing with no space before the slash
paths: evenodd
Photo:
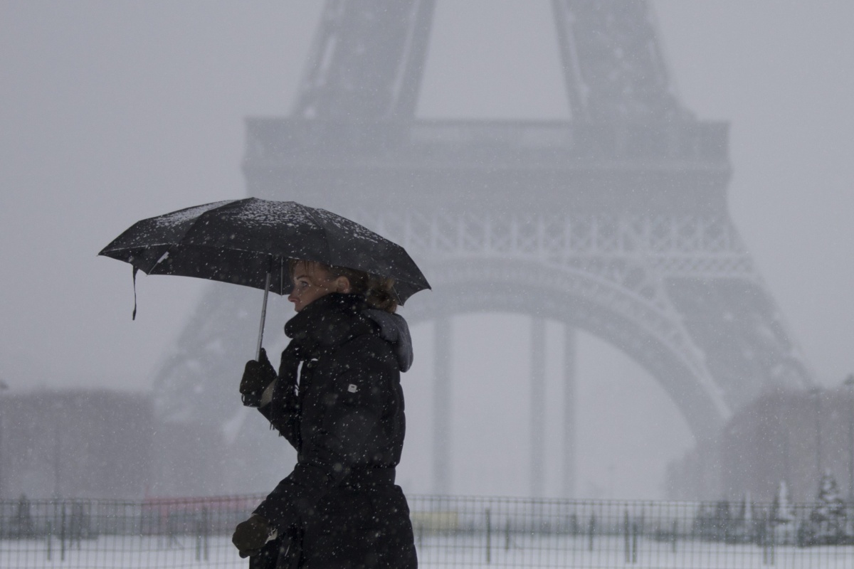
<path id="1" fill-rule="evenodd" d="M 669 394 L 698 440 L 712 438 L 731 414 L 701 355 L 685 350 L 685 331 L 637 294 L 590 273 L 525 260 L 429 266 L 434 293 L 413 298 L 401 311 L 411 324 L 466 313 L 547 317 L 633 357 Z"/>

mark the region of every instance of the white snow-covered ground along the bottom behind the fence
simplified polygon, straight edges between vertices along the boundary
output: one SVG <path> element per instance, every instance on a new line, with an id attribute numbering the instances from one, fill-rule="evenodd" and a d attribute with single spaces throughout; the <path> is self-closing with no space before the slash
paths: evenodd
<path id="1" fill-rule="evenodd" d="M 778 546 L 772 550 L 756 545 L 728 545 L 684 540 L 673 543 L 648 538 L 638 539 L 632 559 L 623 537 L 597 537 L 590 549 L 587 537 L 516 534 L 492 537 L 487 547 L 486 536 L 422 536 L 418 548 L 421 566 L 450 569 L 453 567 L 681 567 L 695 569 L 852 569 L 854 546 L 800 549 Z M 66 544 L 63 552 L 59 540 L 0 541 L 0 567 L 34 569 L 63 567 L 67 569 L 240 567 L 248 566 L 231 546 L 227 536 L 204 539 L 180 536 L 168 542 L 167 537 L 104 536 Z"/>

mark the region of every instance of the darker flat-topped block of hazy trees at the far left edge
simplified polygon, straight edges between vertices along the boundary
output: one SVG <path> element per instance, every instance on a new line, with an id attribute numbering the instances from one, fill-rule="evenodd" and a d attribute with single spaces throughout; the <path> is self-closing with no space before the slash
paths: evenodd
<path id="1" fill-rule="evenodd" d="M 143 496 L 152 481 L 153 417 L 148 394 L 4 394 L 0 497 Z"/>

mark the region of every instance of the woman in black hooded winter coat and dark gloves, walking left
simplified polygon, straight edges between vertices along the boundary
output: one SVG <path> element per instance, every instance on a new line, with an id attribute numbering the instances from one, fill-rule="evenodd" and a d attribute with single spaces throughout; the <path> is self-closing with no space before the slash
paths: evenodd
<path id="1" fill-rule="evenodd" d="M 232 542 L 252 567 L 417 567 L 395 467 L 405 418 L 407 322 L 389 279 L 313 261 L 290 263 L 296 316 L 278 374 L 266 353 L 240 392 L 290 441 L 297 462 Z"/>

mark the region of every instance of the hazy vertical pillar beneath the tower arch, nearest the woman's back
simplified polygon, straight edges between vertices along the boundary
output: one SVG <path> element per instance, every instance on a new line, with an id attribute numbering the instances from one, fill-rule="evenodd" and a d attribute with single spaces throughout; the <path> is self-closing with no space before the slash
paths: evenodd
<path id="1" fill-rule="evenodd" d="M 451 490 L 451 318 L 441 316 L 433 328 L 435 384 L 433 392 L 433 491 Z"/>

